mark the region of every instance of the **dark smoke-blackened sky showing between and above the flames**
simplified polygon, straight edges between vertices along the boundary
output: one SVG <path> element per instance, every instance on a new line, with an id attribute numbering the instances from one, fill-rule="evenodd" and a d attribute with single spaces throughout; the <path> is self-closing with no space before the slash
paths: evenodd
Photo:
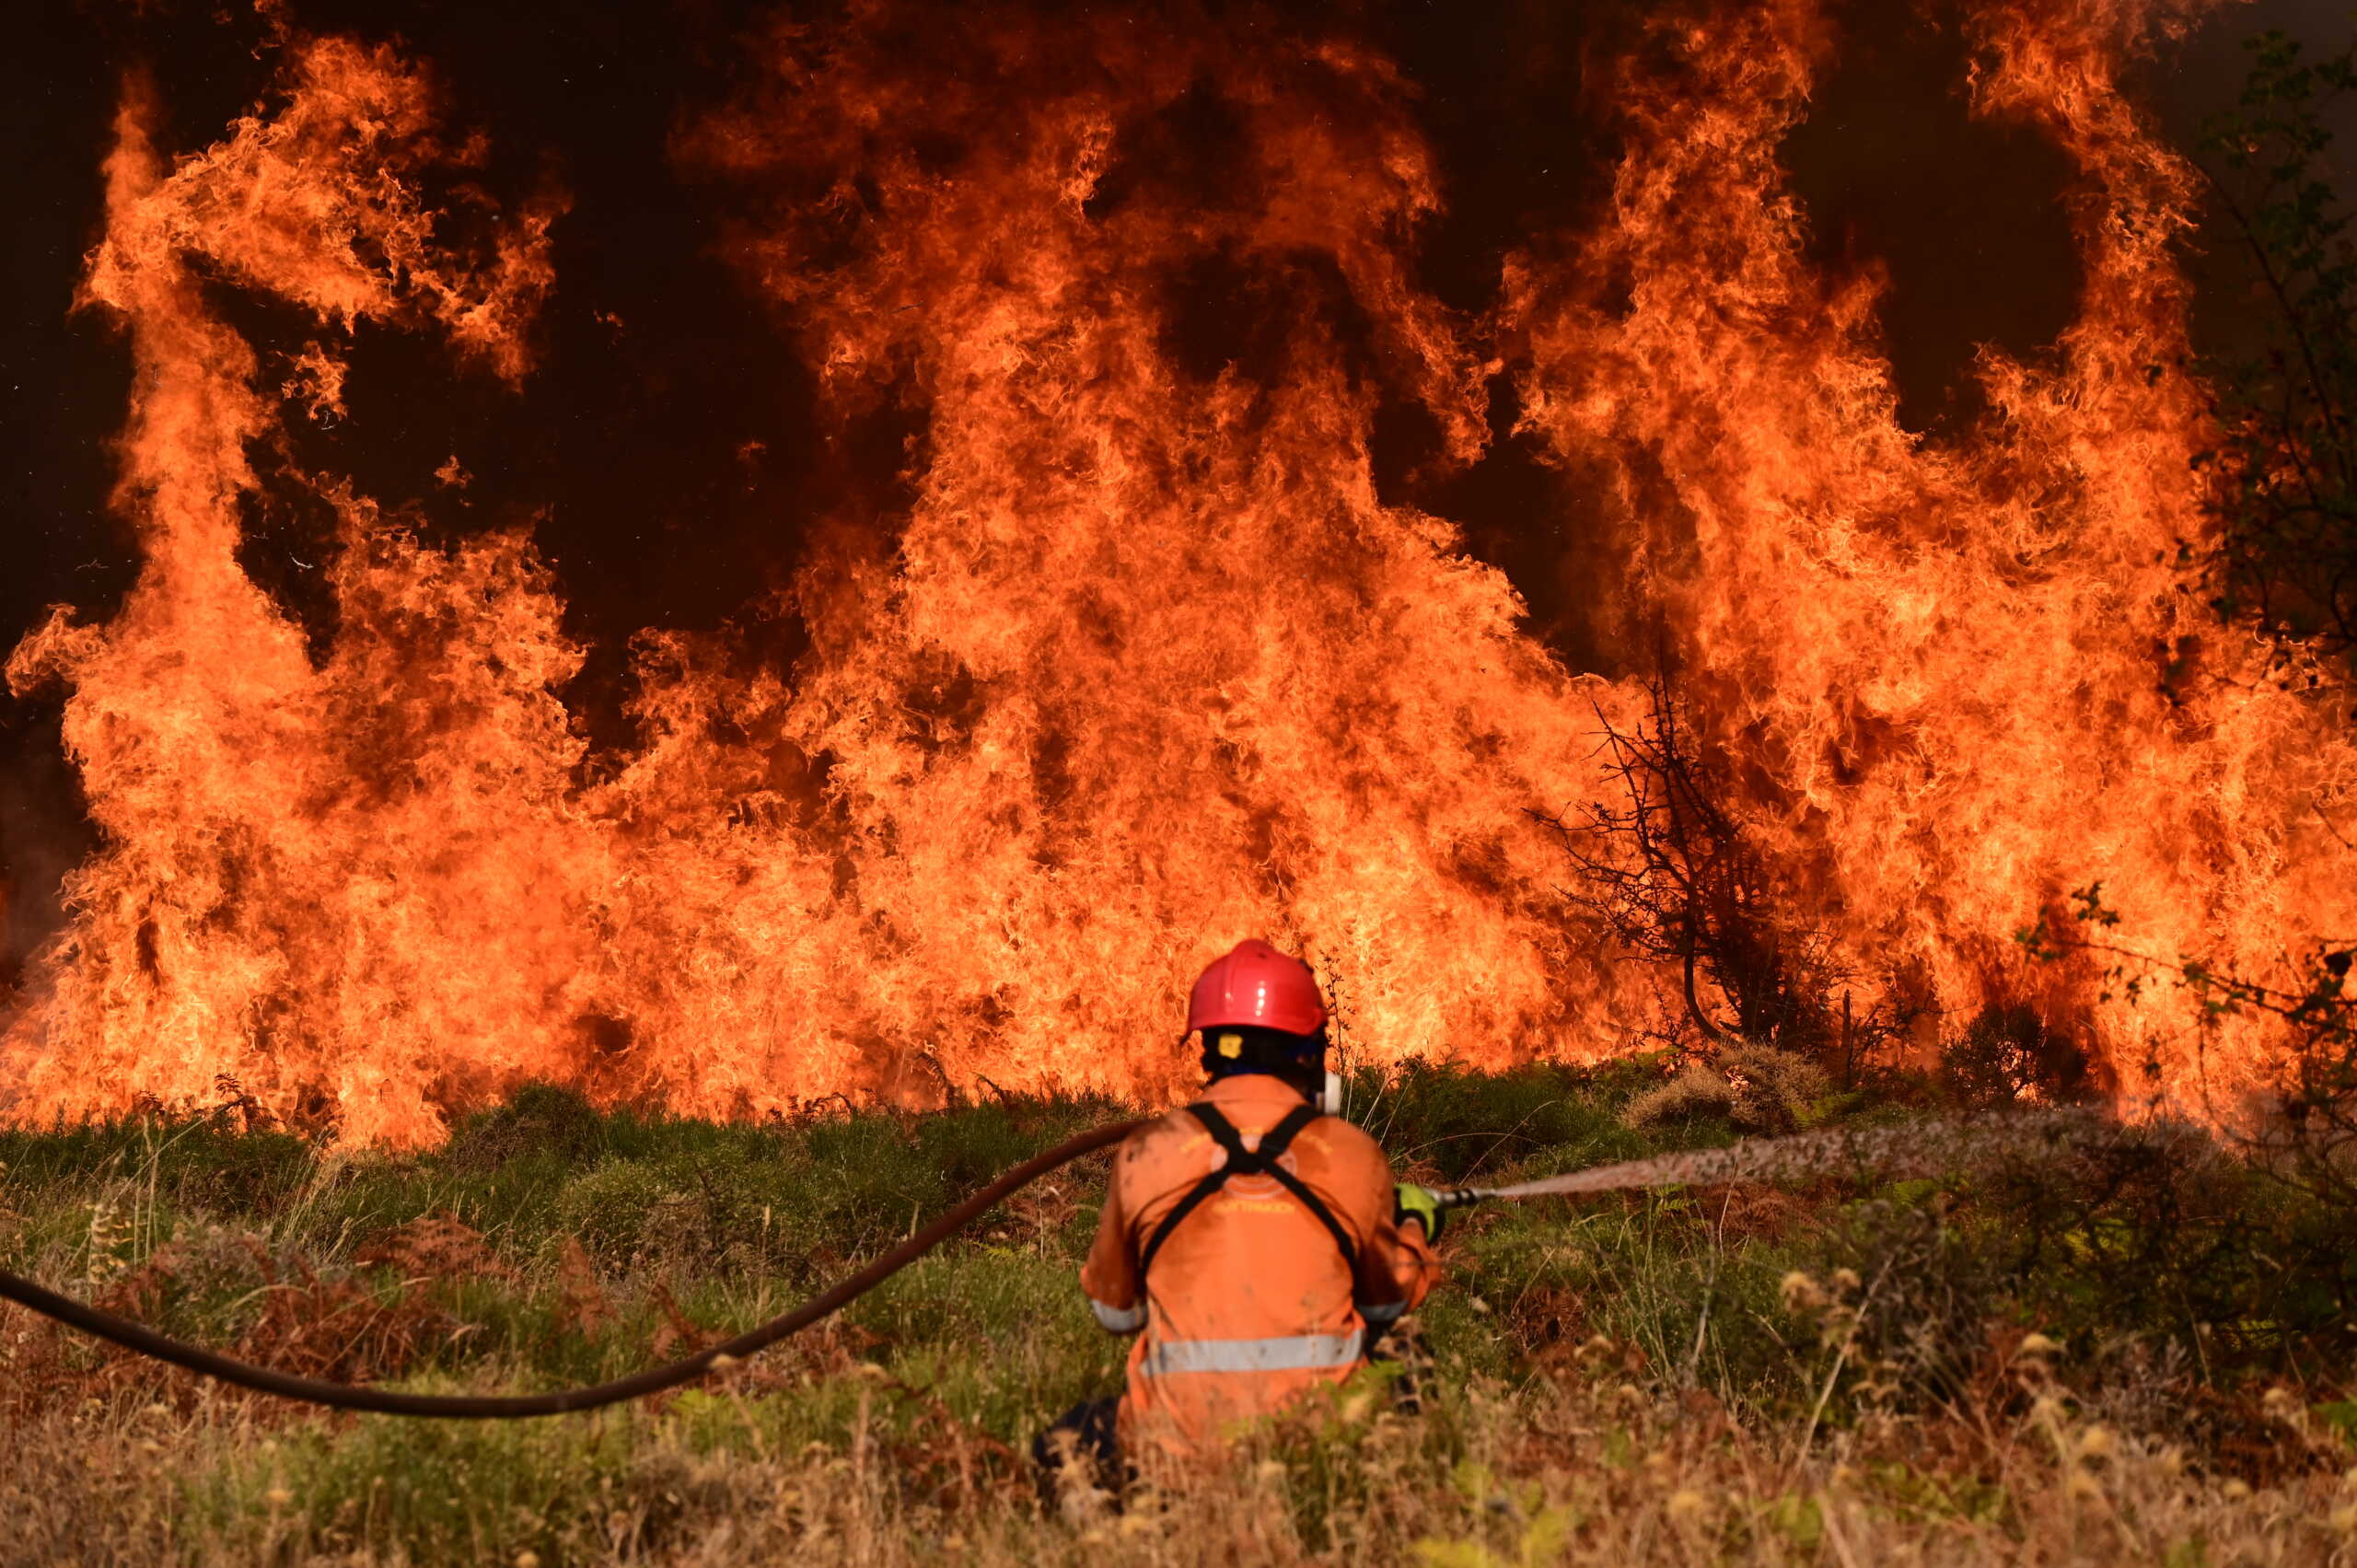
<path id="1" fill-rule="evenodd" d="M 1577 94 L 1579 54 L 1629 26 L 1631 0 L 1367 0 L 1303 7 L 1355 17 L 1421 87 L 1450 200 L 1428 236 L 1426 283 L 1464 309 L 1490 304 L 1499 257 L 1534 233 L 1577 226 L 1607 172 L 1610 141 Z M 431 61 L 457 118 L 490 132 L 493 184 L 542 179 L 573 198 L 556 229 L 559 292 L 544 354 L 523 394 L 453 377 L 424 337 L 363 332 L 351 417 L 365 446 L 335 446 L 363 490 L 420 493 L 453 450 L 486 453 L 467 507 L 443 526 L 530 521 L 556 564 L 573 627 L 599 653 L 575 710 L 615 726 L 625 639 L 639 627 L 714 627 L 764 585 L 783 585 L 816 516 L 886 516 L 905 429 L 877 417 L 818 441 L 811 387 L 790 337 L 719 257 L 714 198 L 684 182 L 667 139 L 686 111 L 721 99 L 742 68 L 745 31 L 771 7 L 483 5 L 481 0 L 295 0 L 306 31 L 398 35 Z M 1219 12 L 1219 7 L 1214 7 Z M 1959 52 L 1883 0 L 1848 7 L 1843 64 L 1820 85 L 1787 156 L 1829 264 L 1879 259 L 1893 292 L 1886 330 L 1902 415 L 1919 429 L 1970 417 L 1961 368 L 1980 342 L 2032 354 L 2067 321 L 2077 271 L 2055 203 L 2060 158 L 2025 132 L 1973 123 L 1956 97 Z M 2147 71 L 2180 144 L 2230 101 L 2237 40 L 2286 26 L 2329 47 L 2341 0 L 2260 0 L 2227 12 Z M 16 153 L 5 248 L 9 314 L 0 335 L 0 646 L 49 604 L 104 613 L 134 573 L 130 531 L 108 514 L 108 436 L 123 420 L 127 363 L 108 325 L 68 314 L 99 226 L 99 160 L 125 68 L 146 66 L 170 111 L 165 144 L 193 151 L 266 85 L 262 26 L 205 2 L 35 0 L 0 64 L 0 123 Z M 2232 297 L 2232 269 L 2211 295 Z M 620 325 L 615 325 L 620 323 Z M 424 396 L 420 396 L 424 391 Z M 1494 422 L 1511 422 L 1501 394 Z M 1412 446 L 1409 439 L 1402 439 Z M 750 448 L 750 443 L 759 443 Z M 747 455 L 752 450 L 752 455 Z M 1567 658 L 1582 646 L 1565 599 L 1567 498 L 1501 441 L 1440 483 L 1386 465 L 1400 500 L 1466 528 L 1532 604 Z M 323 521 L 257 519 L 250 568 L 297 613 L 316 611 L 299 561 Z M 790 653 L 790 648 L 778 648 Z M 54 698 L 0 693 L 0 990 L 9 955 L 54 924 L 59 872 L 87 849 L 71 771 L 57 752 Z"/>

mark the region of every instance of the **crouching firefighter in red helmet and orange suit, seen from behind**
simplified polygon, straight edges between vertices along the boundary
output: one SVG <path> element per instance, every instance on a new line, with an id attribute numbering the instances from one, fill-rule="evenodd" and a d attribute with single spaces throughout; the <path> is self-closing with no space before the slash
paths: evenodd
<path id="1" fill-rule="evenodd" d="M 1070 1410 L 1039 1457 L 1186 1457 L 1237 1422 L 1336 1384 L 1431 1290 L 1440 1210 L 1393 1184 L 1372 1137 L 1327 1115 L 1325 1000 L 1263 941 L 1188 1000 L 1202 1099 L 1129 1134 L 1080 1271 L 1096 1320 L 1138 1335 L 1120 1401 Z"/>

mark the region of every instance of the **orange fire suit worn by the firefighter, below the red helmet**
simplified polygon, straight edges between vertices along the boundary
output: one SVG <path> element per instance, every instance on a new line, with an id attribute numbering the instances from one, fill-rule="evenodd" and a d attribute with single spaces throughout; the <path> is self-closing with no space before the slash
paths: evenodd
<path id="1" fill-rule="evenodd" d="M 1303 1111 L 1266 1073 L 1221 1078 L 1202 1099 L 1244 1151 Z M 1325 1205 L 1332 1228 L 1273 1174 L 1235 1174 L 1190 1198 L 1228 1162 L 1190 1111 L 1129 1134 L 1113 1162 L 1080 1283 L 1098 1323 L 1138 1332 L 1120 1408 L 1134 1457 L 1214 1445 L 1235 1422 L 1341 1382 L 1365 1365 L 1369 1327 L 1381 1332 L 1424 1302 L 1438 1276 L 1424 1226 L 1393 1224 L 1384 1151 L 1351 1122 L 1308 1120 L 1275 1160 Z"/>

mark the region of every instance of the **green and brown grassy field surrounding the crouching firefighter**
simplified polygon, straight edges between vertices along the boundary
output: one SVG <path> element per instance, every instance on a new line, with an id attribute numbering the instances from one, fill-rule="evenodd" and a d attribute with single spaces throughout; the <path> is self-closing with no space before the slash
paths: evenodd
<path id="1" fill-rule="evenodd" d="M 1650 1082 L 1355 1099 L 1452 1184 L 1732 1137 L 1631 1129 Z M 0 1259 L 278 1368 L 530 1391 L 752 1325 L 1120 1113 L 714 1127 L 530 1089 L 417 1158 L 238 1113 L 0 1134 Z M 1475 1210 L 1402 1346 L 1421 1412 L 1376 1370 L 1186 1488 L 1042 1511 L 1030 1436 L 1117 1386 L 1072 1280 L 1101 1191 L 1070 1167 L 778 1351 L 585 1417 L 328 1415 L 0 1309 L 0 1561 L 2357 1563 L 2348 1214 L 2185 1134 Z"/>

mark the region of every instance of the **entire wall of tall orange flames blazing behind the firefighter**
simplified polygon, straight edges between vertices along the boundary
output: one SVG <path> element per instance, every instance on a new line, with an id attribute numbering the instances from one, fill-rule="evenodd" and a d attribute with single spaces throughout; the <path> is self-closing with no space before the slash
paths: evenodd
<path id="1" fill-rule="evenodd" d="M 7 1021 L 7 1115 L 217 1075 L 384 1144 L 523 1078 L 714 1115 L 1155 1096 L 1188 976 L 1240 934 L 1310 953 L 1376 1061 L 1586 1059 L 1657 1021 L 1527 816 L 1612 788 L 1598 712 L 1636 696 L 1376 495 L 1379 401 L 1464 462 L 1494 368 L 1412 278 L 1440 193 L 1409 87 L 1360 45 L 1091 17 L 858 7 L 775 33 L 684 134 L 757 215 L 733 255 L 832 406 L 926 424 L 896 538 L 811 549 L 811 653 L 747 677 L 643 637 L 641 743 L 596 771 L 526 538 L 436 549 L 321 476 L 323 651 L 240 571 L 247 453 L 332 408 L 342 365 L 311 347 L 273 384 L 217 307 L 438 330 L 519 377 L 554 207 L 448 241 L 424 191 L 478 149 L 389 52 L 292 45 L 276 113 L 170 172 L 127 97 L 87 295 L 137 358 L 146 568 L 111 622 L 59 613 L 9 663 L 71 686 L 104 849 Z M 1777 141 L 1831 38 L 1801 0 L 1652 24 L 1605 219 L 1518 259 L 1499 325 L 1843 955 L 1949 1009 L 2039 1000 L 2114 1068 L 2157 1042 L 2192 1103 L 2187 1019 L 2025 976 L 2011 931 L 2098 877 L 2161 950 L 2260 962 L 2345 927 L 2317 811 L 2357 762 L 2164 561 L 2199 528 L 2201 429 L 2187 177 L 2117 87 L 2154 21 L 2018 0 L 1970 26 L 1978 111 L 2079 170 L 2088 278 L 2055 365 L 1985 356 L 1973 439 L 1897 427 L 1871 281 L 1803 262 Z M 1207 358 L 1209 276 L 1285 309 Z"/>

